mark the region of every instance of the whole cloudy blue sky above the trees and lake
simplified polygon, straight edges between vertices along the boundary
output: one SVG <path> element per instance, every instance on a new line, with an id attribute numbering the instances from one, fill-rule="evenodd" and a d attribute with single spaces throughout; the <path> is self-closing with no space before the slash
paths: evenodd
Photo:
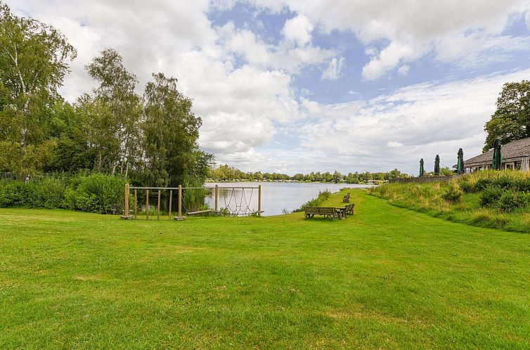
<path id="1" fill-rule="evenodd" d="M 530 0 L 7 0 L 78 51 L 179 79 L 200 146 L 243 171 L 418 174 L 481 153 L 505 82 L 530 79 Z"/>

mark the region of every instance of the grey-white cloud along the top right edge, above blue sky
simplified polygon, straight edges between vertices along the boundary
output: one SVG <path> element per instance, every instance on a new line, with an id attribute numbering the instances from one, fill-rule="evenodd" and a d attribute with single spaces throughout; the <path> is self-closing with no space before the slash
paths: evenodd
<path id="1" fill-rule="evenodd" d="M 493 59 L 495 62 L 509 57 L 511 48 L 530 51 L 524 37 L 502 35 L 512 19 L 524 13 L 528 24 L 528 0 L 247 1 L 276 12 L 287 6 L 328 33 L 332 30 L 354 33 L 370 56 L 370 62 L 363 67 L 363 78 L 367 80 L 379 79 L 396 67 L 432 52 L 461 65 L 466 58 L 484 58 L 484 51 L 491 56 L 492 51 L 500 50 Z M 465 46 L 458 40 L 459 36 L 466 37 Z M 377 50 L 374 45 L 381 41 L 389 44 Z M 495 48 L 491 41 L 497 41 Z M 484 46 L 484 43 L 489 44 Z M 466 65 L 471 62 L 472 59 L 467 59 Z"/>

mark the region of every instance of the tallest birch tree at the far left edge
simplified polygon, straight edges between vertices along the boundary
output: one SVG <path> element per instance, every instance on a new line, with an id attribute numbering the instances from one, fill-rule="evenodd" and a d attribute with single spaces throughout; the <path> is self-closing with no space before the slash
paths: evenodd
<path id="1" fill-rule="evenodd" d="M 0 1 L 0 167 L 30 176 L 50 160 L 49 111 L 75 56 L 55 28 Z"/>

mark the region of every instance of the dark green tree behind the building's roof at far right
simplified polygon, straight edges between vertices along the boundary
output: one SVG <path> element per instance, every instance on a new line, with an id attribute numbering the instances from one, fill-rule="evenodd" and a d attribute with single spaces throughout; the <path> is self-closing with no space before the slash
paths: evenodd
<path id="1" fill-rule="evenodd" d="M 488 133 L 484 152 L 493 147 L 496 138 L 504 144 L 530 137 L 530 81 L 504 84 L 497 99 L 497 110 L 484 131 Z"/>

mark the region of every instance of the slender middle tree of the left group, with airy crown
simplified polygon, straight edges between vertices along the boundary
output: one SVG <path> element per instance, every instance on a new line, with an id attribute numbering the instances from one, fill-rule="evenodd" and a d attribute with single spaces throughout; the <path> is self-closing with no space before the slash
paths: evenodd
<path id="1" fill-rule="evenodd" d="M 94 89 L 98 103 L 102 103 L 112 114 L 115 126 L 111 138 L 117 145 L 115 158 L 108 159 L 103 171 L 127 176 L 131 164 L 135 164 L 140 156 L 140 129 L 142 106 L 140 96 L 134 92 L 138 79 L 127 71 L 123 58 L 117 51 L 107 48 L 101 56 L 86 66 L 89 75 L 100 85 Z M 101 165 L 101 162 L 99 163 Z"/>

